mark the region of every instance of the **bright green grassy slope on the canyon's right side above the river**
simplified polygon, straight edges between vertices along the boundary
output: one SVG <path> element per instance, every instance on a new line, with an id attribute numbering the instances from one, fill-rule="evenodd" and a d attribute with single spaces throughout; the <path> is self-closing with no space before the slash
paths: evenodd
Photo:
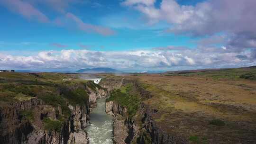
<path id="1" fill-rule="evenodd" d="M 107 101 L 116 101 L 121 106 L 126 107 L 128 109 L 129 117 L 133 117 L 137 113 L 137 109 L 140 104 L 140 97 L 132 92 L 133 85 L 130 84 L 126 87 L 123 92 L 121 90 L 111 90 L 110 98 Z M 124 92 L 125 91 L 125 92 Z"/>

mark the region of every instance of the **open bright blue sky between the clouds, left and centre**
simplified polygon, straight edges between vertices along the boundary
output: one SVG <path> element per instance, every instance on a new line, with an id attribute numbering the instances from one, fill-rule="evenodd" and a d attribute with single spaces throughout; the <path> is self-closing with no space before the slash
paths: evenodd
<path id="1" fill-rule="evenodd" d="M 185 0 L 180 1 L 187 4 Z M 69 9 L 83 22 L 111 27 L 116 31 L 113 36 L 88 34 L 72 27 L 67 29 L 53 24 L 38 23 L 1 6 L 0 19 L 4 19 L 4 22 L 0 27 L 0 41 L 6 43 L 1 46 L 1 50 L 59 50 L 52 45 L 55 43 L 68 45 L 64 49 L 82 49 L 79 45 L 89 45 L 88 49 L 97 51 L 136 50 L 184 44 L 189 47 L 195 46 L 188 36 L 175 36 L 163 32 L 168 27 L 164 22 L 147 26 L 140 13 L 121 6 L 119 0 L 111 0 L 111 2 L 99 0 L 97 4 L 100 6 L 88 2 Z M 49 9 L 47 7 L 38 7 L 38 9 L 46 11 L 47 16 L 52 19 L 59 15 L 54 10 L 47 11 Z M 22 43 L 31 44 L 22 45 Z"/>

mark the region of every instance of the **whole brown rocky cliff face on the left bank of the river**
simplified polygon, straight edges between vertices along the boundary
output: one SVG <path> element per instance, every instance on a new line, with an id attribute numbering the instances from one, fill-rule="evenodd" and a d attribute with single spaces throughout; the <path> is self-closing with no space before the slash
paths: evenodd
<path id="1" fill-rule="evenodd" d="M 96 99 L 107 96 L 107 91 L 87 89 L 89 108 L 96 105 Z M 69 117 L 64 117 L 63 109 L 46 105 L 38 98 L 21 102 L 1 104 L 0 101 L 0 144 L 88 144 L 84 128 L 88 125 L 89 108 L 69 105 Z M 24 116 L 24 112 L 30 112 Z M 25 114 L 26 115 L 26 114 Z M 62 123 L 59 130 L 46 130 L 44 118 Z M 58 120 L 57 117 L 61 120 Z"/>

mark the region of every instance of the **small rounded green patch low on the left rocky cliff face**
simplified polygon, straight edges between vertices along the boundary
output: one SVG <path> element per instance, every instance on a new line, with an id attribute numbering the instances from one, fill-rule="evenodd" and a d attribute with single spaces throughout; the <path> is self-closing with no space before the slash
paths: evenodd
<path id="1" fill-rule="evenodd" d="M 56 131 L 58 133 L 61 132 L 62 122 L 60 120 L 52 120 L 49 117 L 44 118 L 43 120 L 45 129 L 48 131 Z"/>

